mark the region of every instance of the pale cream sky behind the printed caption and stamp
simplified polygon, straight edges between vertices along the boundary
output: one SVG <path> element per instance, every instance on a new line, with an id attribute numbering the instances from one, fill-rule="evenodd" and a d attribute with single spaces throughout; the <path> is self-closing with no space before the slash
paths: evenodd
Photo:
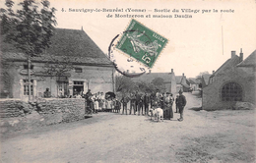
<path id="1" fill-rule="evenodd" d="M 236 51 L 239 55 L 242 48 L 245 59 L 256 49 L 255 0 L 49 1 L 51 7 L 57 9 L 57 27 L 83 27 L 105 54 L 111 40 L 124 31 L 132 19 L 115 18 L 115 14 L 144 15 L 144 18 L 135 20 L 168 39 L 167 45 L 151 69 L 153 73 L 166 73 L 173 69 L 176 76 L 184 73 L 186 77 L 194 78 L 200 72 L 216 71 L 230 58 L 231 51 Z M 123 12 L 73 12 L 74 9 L 88 11 L 86 9 L 116 8 L 122 9 Z M 130 9 L 136 9 L 137 12 L 129 12 Z M 138 9 L 145 12 L 138 12 Z M 173 13 L 173 9 L 179 12 Z M 190 12 L 182 13 L 181 9 L 190 9 Z M 160 10 L 162 12 L 155 12 Z M 194 10 L 198 12 L 194 13 Z M 203 10 L 207 12 L 202 13 Z M 107 14 L 113 15 L 114 18 L 107 18 Z M 174 14 L 187 14 L 192 18 L 174 18 Z M 151 15 L 151 18 L 146 18 L 147 15 Z M 172 18 L 152 18 L 153 15 L 171 15 Z M 119 65 L 130 67 L 125 62 L 127 58 L 122 54 L 116 55 L 122 58 L 118 60 Z"/>

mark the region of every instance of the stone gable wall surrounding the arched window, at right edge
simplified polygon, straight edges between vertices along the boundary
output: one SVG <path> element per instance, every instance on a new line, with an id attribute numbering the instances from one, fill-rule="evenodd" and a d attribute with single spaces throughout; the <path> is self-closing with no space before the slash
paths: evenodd
<path id="1" fill-rule="evenodd" d="M 203 88 L 204 110 L 234 109 L 235 101 L 222 101 L 222 88 L 227 82 L 236 82 L 242 87 L 242 101 L 255 104 L 255 78 L 246 71 L 231 68 L 228 72 L 216 77 L 213 83 Z"/>

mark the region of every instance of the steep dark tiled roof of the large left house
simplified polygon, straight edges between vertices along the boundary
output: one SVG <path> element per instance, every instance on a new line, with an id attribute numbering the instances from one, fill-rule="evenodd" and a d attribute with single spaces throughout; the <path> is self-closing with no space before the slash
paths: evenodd
<path id="1" fill-rule="evenodd" d="M 11 44 L 3 43 L 2 53 L 6 59 L 26 59 L 26 56 Z M 59 60 L 68 56 L 74 63 L 112 65 L 89 35 L 78 29 L 56 28 L 50 47 L 40 57 L 32 58 L 32 61 L 48 61 L 49 55 Z"/>

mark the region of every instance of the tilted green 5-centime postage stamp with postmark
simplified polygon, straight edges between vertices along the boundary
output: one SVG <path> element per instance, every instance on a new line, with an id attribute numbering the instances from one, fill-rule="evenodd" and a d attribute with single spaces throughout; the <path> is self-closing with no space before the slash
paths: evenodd
<path id="1" fill-rule="evenodd" d="M 157 32 L 132 20 L 116 44 L 116 48 L 147 67 L 153 68 L 167 41 Z"/>

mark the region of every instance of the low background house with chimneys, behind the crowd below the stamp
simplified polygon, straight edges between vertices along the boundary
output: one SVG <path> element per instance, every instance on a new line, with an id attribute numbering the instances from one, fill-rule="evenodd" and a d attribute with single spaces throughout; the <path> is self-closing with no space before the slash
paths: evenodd
<path id="1" fill-rule="evenodd" d="M 170 73 L 152 73 L 151 71 L 147 74 L 144 74 L 140 77 L 132 79 L 135 82 L 148 82 L 154 83 L 155 81 L 159 81 L 158 87 L 161 92 L 176 92 L 176 81 L 175 81 L 175 74 L 173 69 L 171 69 Z"/>

